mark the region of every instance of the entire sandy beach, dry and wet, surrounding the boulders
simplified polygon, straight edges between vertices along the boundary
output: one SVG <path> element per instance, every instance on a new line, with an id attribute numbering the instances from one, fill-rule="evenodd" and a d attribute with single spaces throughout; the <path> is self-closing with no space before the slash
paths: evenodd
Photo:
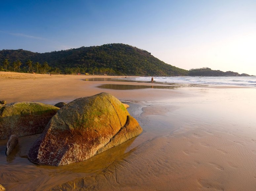
<path id="1" fill-rule="evenodd" d="M 0 72 L 0 100 L 7 103 L 54 105 L 108 92 L 130 106 L 143 129 L 126 143 L 60 167 L 26 158 L 39 135 L 20 137 L 8 157 L 2 140 L 0 184 L 7 190 L 255 190 L 256 88 L 119 78 Z"/>

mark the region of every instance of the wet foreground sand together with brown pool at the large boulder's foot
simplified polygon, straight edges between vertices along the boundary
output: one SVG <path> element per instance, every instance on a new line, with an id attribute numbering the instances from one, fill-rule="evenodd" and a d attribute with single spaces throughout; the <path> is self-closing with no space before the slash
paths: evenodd
<path id="1" fill-rule="evenodd" d="M 19 138 L 8 157 L 7 141 L 0 141 L 0 184 L 9 190 L 254 190 L 256 88 L 187 91 L 191 96 L 127 102 L 143 133 L 84 162 L 30 163 L 25 156 L 38 135 Z"/>

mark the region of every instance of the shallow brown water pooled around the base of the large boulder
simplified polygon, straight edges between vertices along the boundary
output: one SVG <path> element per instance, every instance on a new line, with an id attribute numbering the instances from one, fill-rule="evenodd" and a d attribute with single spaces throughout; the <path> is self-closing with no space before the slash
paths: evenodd
<path id="1" fill-rule="evenodd" d="M 83 162 L 66 166 L 36 165 L 26 158 L 31 144 L 38 135 L 21 137 L 19 146 L 8 157 L 4 154 L 6 140 L 0 142 L 1 183 L 13 190 L 49 190 L 75 177 L 91 177 L 108 168 L 117 158 L 122 158 L 135 138 L 111 148 Z M 33 190 L 32 189 L 32 190 Z"/>

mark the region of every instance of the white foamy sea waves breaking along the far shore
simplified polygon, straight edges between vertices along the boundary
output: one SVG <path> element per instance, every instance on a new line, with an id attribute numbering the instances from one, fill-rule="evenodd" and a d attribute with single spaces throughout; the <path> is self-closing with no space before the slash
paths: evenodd
<path id="1" fill-rule="evenodd" d="M 127 80 L 149 82 L 151 77 L 134 77 L 126 78 Z M 192 77 L 192 76 L 177 76 L 177 77 L 154 77 L 157 83 L 174 83 L 174 84 L 208 84 L 208 85 L 235 85 L 235 86 L 252 86 L 256 87 L 255 76 L 232 76 L 232 77 Z"/>

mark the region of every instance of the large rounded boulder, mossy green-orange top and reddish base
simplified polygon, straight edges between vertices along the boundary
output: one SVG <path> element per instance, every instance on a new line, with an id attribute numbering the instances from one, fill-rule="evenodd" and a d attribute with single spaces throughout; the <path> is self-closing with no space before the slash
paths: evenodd
<path id="1" fill-rule="evenodd" d="M 62 107 L 29 150 L 29 158 L 34 163 L 53 166 L 79 162 L 141 132 L 124 105 L 103 92 Z"/>

